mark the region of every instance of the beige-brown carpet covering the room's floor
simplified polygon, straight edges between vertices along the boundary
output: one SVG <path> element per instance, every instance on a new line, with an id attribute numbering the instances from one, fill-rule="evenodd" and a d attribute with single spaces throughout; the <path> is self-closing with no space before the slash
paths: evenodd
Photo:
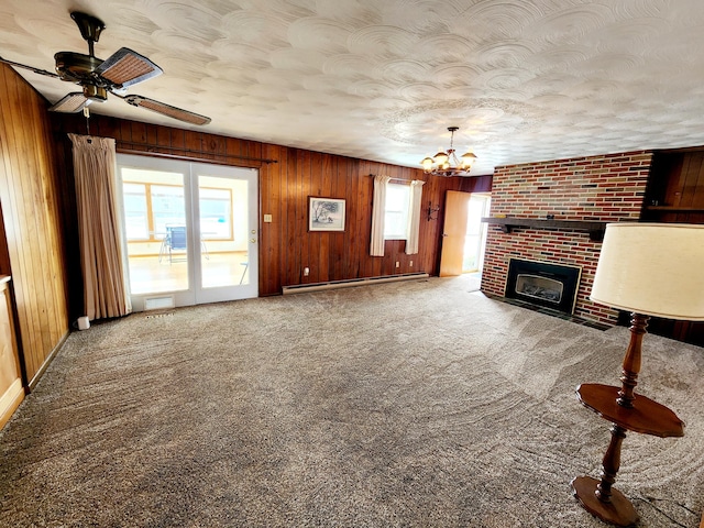
<path id="1" fill-rule="evenodd" d="M 570 481 L 608 424 L 606 332 L 430 278 L 132 315 L 73 333 L 0 433 L 0 526 L 600 527 Z M 704 351 L 645 339 L 638 391 L 688 422 L 630 433 L 644 527 L 704 508 Z"/>

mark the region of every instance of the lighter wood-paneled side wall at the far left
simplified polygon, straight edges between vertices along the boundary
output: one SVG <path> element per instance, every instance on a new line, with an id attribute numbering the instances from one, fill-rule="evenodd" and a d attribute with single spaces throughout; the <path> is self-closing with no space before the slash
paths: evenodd
<path id="1" fill-rule="evenodd" d="M 67 336 L 62 198 L 46 101 L 0 64 L 0 273 L 12 275 L 25 382 L 32 385 Z"/>

